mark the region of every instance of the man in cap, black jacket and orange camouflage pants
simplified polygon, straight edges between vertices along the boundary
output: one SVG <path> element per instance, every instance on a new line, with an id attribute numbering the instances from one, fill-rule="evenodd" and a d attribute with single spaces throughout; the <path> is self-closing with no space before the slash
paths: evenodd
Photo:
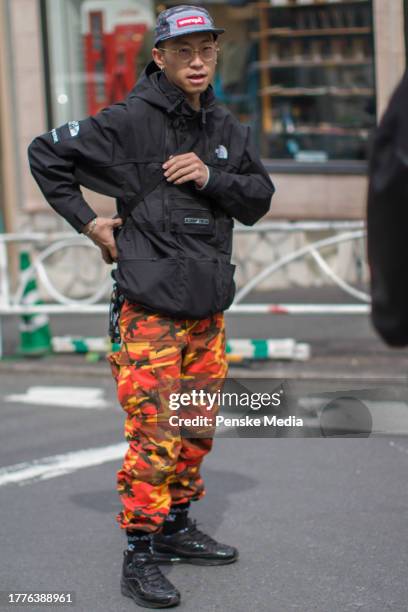
<path id="1" fill-rule="evenodd" d="M 223 32 L 202 7 L 163 11 L 153 61 L 126 100 L 29 148 L 50 205 L 118 264 L 121 349 L 109 359 L 129 441 L 118 472 L 117 520 L 128 537 L 121 588 L 145 607 L 180 600 L 158 563 L 238 558 L 188 517 L 205 494 L 199 469 L 212 447 L 209 428 L 183 434 L 169 425 L 172 393 L 215 389 L 227 374 L 233 218 L 252 225 L 274 192 L 249 128 L 214 98 Z M 119 218 L 97 217 L 79 185 L 116 197 Z M 204 413 L 216 408 L 189 412 Z"/>

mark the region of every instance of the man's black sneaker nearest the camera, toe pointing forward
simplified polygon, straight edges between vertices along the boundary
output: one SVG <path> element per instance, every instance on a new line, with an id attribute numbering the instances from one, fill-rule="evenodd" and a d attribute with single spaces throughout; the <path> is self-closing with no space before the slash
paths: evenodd
<path id="1" fill-rule="evenodd" d="M 122 595 L 144 608 L 170 608 L 180 603 L 180 593 L 162 574 L 150 553 L 124 551 Z"/>

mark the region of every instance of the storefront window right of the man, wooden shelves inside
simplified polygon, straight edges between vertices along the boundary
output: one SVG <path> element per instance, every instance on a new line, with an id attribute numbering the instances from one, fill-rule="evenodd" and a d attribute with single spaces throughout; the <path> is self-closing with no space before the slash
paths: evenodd
<path id="1" fill-rule="evenodd" d="M 363 160 L 375 126 L 371 0 L 259 5 L 262 152 Z"/>

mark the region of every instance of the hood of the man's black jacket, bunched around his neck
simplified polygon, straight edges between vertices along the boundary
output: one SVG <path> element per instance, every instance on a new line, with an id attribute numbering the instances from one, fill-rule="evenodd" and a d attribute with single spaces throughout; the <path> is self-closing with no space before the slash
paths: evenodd
<path id="1" fill-rule="evenodd" d="M 206 115 L 214 110 L 215 95 L 211 85 L 200 96 L 201 109 L 196 111 L 188 103 L 182 89 L 171 83 L 165 73 L 154 61 L 151 61 L 142 72 L 128 99 L 141 98 L 149 104 L 158 106 L 169 115 L 184 115 L 193 119 L 200 116 L 201 124 L 206 123 Z"/>

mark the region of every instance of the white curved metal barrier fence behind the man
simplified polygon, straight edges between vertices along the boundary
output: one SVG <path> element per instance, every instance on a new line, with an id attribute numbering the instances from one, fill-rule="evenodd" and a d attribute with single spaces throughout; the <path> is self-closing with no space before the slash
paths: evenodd
<path id="1" fill-rule="evenodd" d="M 256 244 L 264 244 L 266 250 L 268 245 L 273 245 L 278 235 L 290 235 L 295 232 L 331 232 L 333 235 L 305 244 L 292 252 L 278 257 L 274 261 L 265 261 L 262 270 L 252 278 L 246 279 L 242 287 L 237 291 L 235 300 L 229 313 L 234 315 L 256 315 L 256 314 L 287 314 L 287 315 L 361 315 L 370 310 L 370 297 L 360 289 L 353 287 L 349 282 L 341 278 L 333 267 L 324 258 L 325 249 L 347 242 L 355 241 L 363 243 L 365 238 L 364 224 L 360 221 L 316 221 L 316 222 L 264 222 L 255 227 L 238 226 L 234 230 L 237 235 L 254 235 Z M 9 245 L 16 245 L 20 250 L 32 251 L 31 266 L 22 271 L 18 280 L 17 289 L 12 291 L 11 267 L 9 258 Z M 106 264 L 100 263 L 103 270 L 102 279 L 98 286 L 85 298 L 75 298 L 63 293 L 57 288 L 50 277 L 47 269 L 47 260 L 52 260 L 57 254 L 64 250 L 80 247 L 81 249 L 97 249 L 95 245 L 84 236 L 61 232 L 40 233 L 30 232 L 21 234 L 0 234 L 0 357 L 2 355 L 2 317 L 46 313 L 49 315 L 64 314 L 106 314 L 108 303 L 100 303 L 107 299 L 110 293 L 112 280 L 110 269 Z M 364 252 L 364 247 L 361 252 Z M 240 254 L 234 256 L 237 268 L 247 263 L 248 253 L 240 261 Z M 277 271 L 289 266 L 293 262 L 305 258 L 312 258 L 320 273 L 329 281 L 334 283 L 342 291 L 358 300 L 360 303 L 353 304 L 248 304 L 242 303 L 248 294 L 255 290 L 266 278 Z M 82 257 L 83 261 L 83 257 Z M 80 264 L 77 264 L 80 265 Z M 82 265 L 82 264 L 81 264 Z M 102 268 L 104 266 L 104 268 Z M 52 267 L 52 266 L 51 266 Z M 73 272 L 77 270 L 72 264 Z M 106 273 L 105 273 L 106 272 Z M 45 293 L 44 304 L 23 303 L 23 295 L 27 284 L 35 278 Z"/>

